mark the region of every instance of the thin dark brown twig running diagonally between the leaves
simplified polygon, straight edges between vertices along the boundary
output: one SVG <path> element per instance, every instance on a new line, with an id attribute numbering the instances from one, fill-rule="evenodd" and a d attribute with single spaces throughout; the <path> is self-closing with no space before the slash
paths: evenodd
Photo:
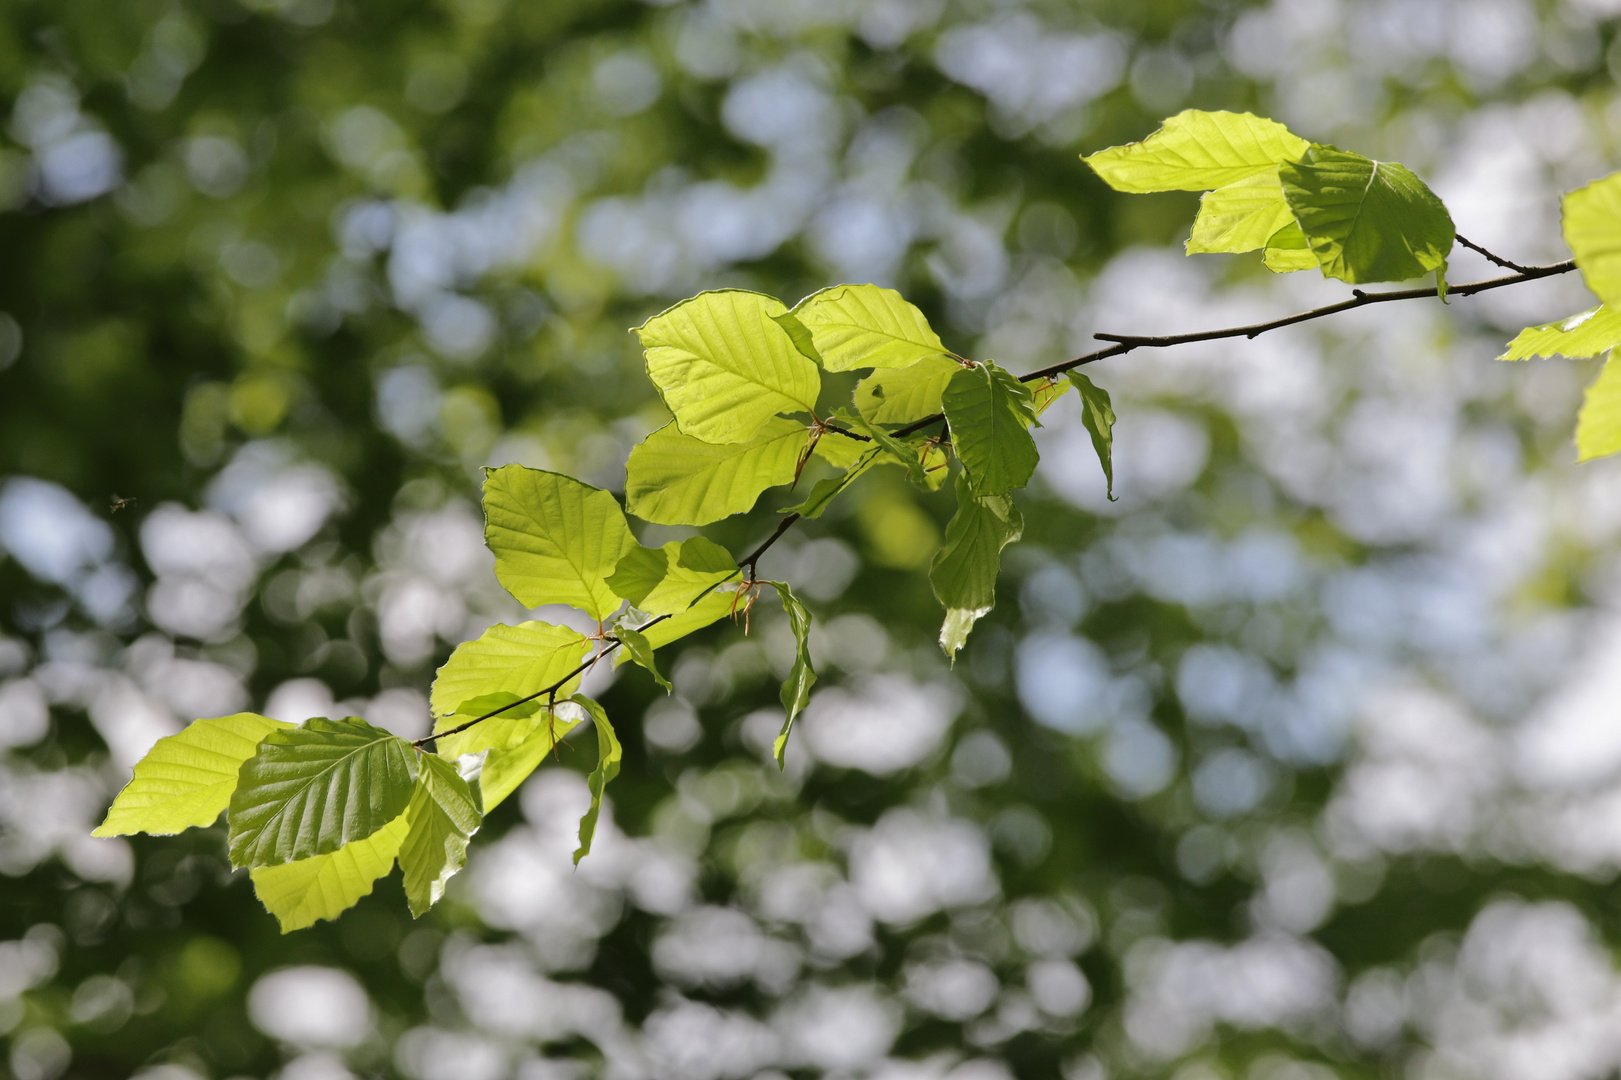
<path id="1" fill-rule="evenodd" d="M 1462 237 L 1459 237 L 1459 243 L 1480 251 L 1480 248 L 1475 248 L 1475 245 L 1469 243 Z M 1472 282 L 1464 284 L 1464 285 L 1454 285 L 1454 287 L 1448 289 L 1448 295 L 1452 295 L 1452 297 L 1472 297 L 1477 292 L 1488 292 L 1491 289 L 1503 289 L 1504 285 L 1517 285 L 1520 282 L 1537 281 L 1538 277 L 1553 277 L 1555 274 L 1568 274 L 1572 269 L 1576 269 L 1576 261 L 1574 259 L 1569 261 L 1569 263 L 1555 263 L 1553 266 L 1524 266 L 1524 268 L 1519 268 L 1519 266 L 1514 266 L 1512 263 L 1504 263 L 1503 259 L 1498 259 L 1495 255 L 1490 255 L 1486 251 L 1482 251 L 1482 255 L 1485 255 L 1486 258 L 1490 258 L 1495 263 L 1501 263 L 1503 266 L 1512 268 L 1516 272 L 1511 277 L 1493 277 L 1493 279 L 1488 279 L 1488 281 L 1472 281 Z M 1394 300 L 1422 300 L 1425 297 L 1436 295 L 1436 290 L 1431 289 L 1431 287 L 1402 289 L 1399 292 L 1363 292 L 1362 289 L 1354 289 L 1352 294 L 1354 295 L 1352 295 L 1350 300 L 1342 300 L 1339 303 L 1331 303 L 1331 305 L 1321 306 L 1321 308 L 1311 308 L 1310 311 L 1300 311 L 1298 315 L 1289 315 L 1289 316 L 1284 316 L 1281 319 L 1272 319 L 1269 323 L 1253 323 L 1250 326 L 1230 326 L 1227 329 L 1196 331 L 1193 334 L 1167 334 L 1167 336 L 1162 336 L 1162 337 L 1131 337 L 1131 336 L 1125 336 L 1125 334 L 1101 334 L 1101 332 L 1099 334 L 1093 334 L 1093 337 L 1096 337 L 1099 341 L 1107 341 L 1107 342 L 1114 342 L 1114 344 L 1109 345 L 1107 349 L 1099 349 L 1097 352 L 1089 352 L 1084 357 L 1075 357 L 1073 360 L 1065 360 L 1063 363 L 1055 363 L 1055 365 L 1052 365 L 1049 368 L 1041 368 L 1039 371 L 1031 371 L 1029 375 L 1021 375 L 1020 381 L 1021 383 L 1029 383 L 1033 379 L 1052 378 L 1054 375 L 1062 375 L 1062 373 L 1065 373 L 1065 371 L 1068 371 L 1071 368 L 1078 368 L 1081 365 L 1093 363 L 1096 360 L 1104 360 L 1107 357 L 1123 355 L 1127 352 L 1131 352 L 1133 349 L 1169 349 L 1170 345 L 1187 345 L 1187 344 L 1193 344 L 1193 342 L 1200 342 L 1200 341 L 1221 341 L 1224 337 L 1260 337 L 1261 334 L 1264 334 L 1268 331 L 1281 329 L 1284 326 L 1294 326 L 1295 323 L 1308 323 L 1311 319 L 1319 319 L 1319 318 L 1324 318 L 1328 315 L 1339 315 L 1341 311 L 1350 311 L 1352 308 L 1365 308 L 1365 306 L 1373 305 L 1373 303 L 1391 303 Z M 895 438 L 906 438 L 908 435 L 914 435 L 914 433 L 927 428 L 929 425 L 939 423 L 942 420 L 945 420 L 945 415 L 942 415 L 942 414 L 935 414 L 932 417 L 924 417 L 922 420 L 917 420 L 916 423 L 909 423 L 905 428 L 900 428 L 898 431 L 893 431 L 893 435 L 895 435 Z M 867 436 L 858 435 L 854 431 L 845 431 L 845 430 L 835 428 L 835 426 L 828 426 L 827 430 L 828 431 L 838 431 L 840 435 L 848 435 L 848 436 L 856 438 L 856 439 L 869 441 Z M 760 546 L 757 546 L 754 551 L 751 551 L 749 555 L 746 555 L 741 559 L 738 559 L 738 566 L 746 566 L 749 569 L 749 577 L 752 579 L 755 566 L 760 561 L 760 556 L 763 556 L 770 550 L 770 546 L 773 543 L 776 543 L 778 540 L 781 540 L 783 534 L 786 534 L 789 529 L 793 529 L 794 522 L 798 522 L 798 521 L 799 521 L 799 514 L 788 514 L 786 517 L 783 517 L 783 521 L 778 522 L 776 530 L 772 532 L 772 535 L 767 537 L 765 542 Z M 718 584 L 720 582 L 716 582 L 716 585 Z M 705 589 L 704 594 L 700 594 L 692 603 L 697 603 L 699 600 L 702 600 L 704 595 L 707 595 L 716 585 L 710 585 L 710 589 Z M 648 619 L 642 626 L 639 626 L 637 631 L 645 631 L 650 626 L 663 623 L 668 618 L 671 618 L 671 616 L 660 615 L 660 616 L 657 616 L 653 619 Z M 467 723 L 457 725 L 457 726 L 451 728 L 449 731 L 438 731 L 434 735 L 423 736 L 423 738 L 417 739 L 415 743 L 412 743 L 412 746 L 421 748 L 421 746 L 425 746 L 428 743 L 433 743 L 434 739 L 443 739 L 447 735 L 460 735 L 462 731 L 465 731 L 467 728 L 473 726 L 475 723 L 483 723 L 485 720 L 490 720 L 491 717 L 499 717 L 503 712 L 507 712 L 509 709 L 517 709 L 519 705 L 528 704 L 528 702 L 535 701 L 537 697 L 546 697 L 548 694 L 550 696 L 556 696 L 556 692 L 559 689 L 562 689 L 572 678 L 575 678 L 577 675 L 584 675 L 585 671 L 588 671 L 598 660 L 601 660 L 603 657 L 609 655 L 621 644 L 619 639 L 613 637 L 613 636 L 608 636 L 603 641 L 606 642 L 606 649 L 603 649 L 600 654 L 593 655 L 590 660 L 582 660 L 579 666 L 575 666 L 572 671 L 569 671 L 567 675 L 564 675 L 561 679 L 558 679 L 551 686 L 548 686 L 545 689 L 538 689 L 533 694 L 530 694 L 528 697 L 519 697 L 517 701 L 509 702 L 506 705 L 501 705 L 499 709 L 494 709 L 491 712 L 486 712 L 481 717 L 473 717 Z"/>

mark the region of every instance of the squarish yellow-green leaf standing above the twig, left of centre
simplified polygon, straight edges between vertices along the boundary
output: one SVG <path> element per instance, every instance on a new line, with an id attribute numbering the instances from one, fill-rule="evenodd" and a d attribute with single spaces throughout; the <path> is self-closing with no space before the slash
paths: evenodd
<path id="1" fill-rule="evenodd" d="M 606 577 L 635 537 L 611 493 L 501 465 L 485 470 L 485 519 L 496 577 L 524 606 L 567 603 L 598 621 L 619 606 Z"/>

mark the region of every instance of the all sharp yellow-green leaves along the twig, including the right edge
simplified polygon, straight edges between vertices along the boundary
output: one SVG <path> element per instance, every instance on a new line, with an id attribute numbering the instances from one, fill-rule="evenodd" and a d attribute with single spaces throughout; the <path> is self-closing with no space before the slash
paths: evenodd
<path id="1" fill-rule="evenodd" d="M 1310 144 L 1248 114 L 1193 110 L 1086 161 L 1120 190 L 1206 191 L 1190 253 L 1261 250 L 1274 271 L 1316 266 L 1357 284 L 1435 272 L 1444 295 L 1452 221 L 1402 165 Z M 1564 229 L 1593 290 L 1621 302 L 1621 175 L 1568 196 Z M 250 868 L 284 931 L 344 911 L 396 859 L 421 915 L 464 866 L 485 811 L 587 720 L 598 765 L 575 861 L 588 853 L 621 751 L 601 705 L 577 692 L 580 676 L 614 655 L 668 691 L 657 650 L 746 615 L 765 587 L 796 637 L 781 689 L 781 762 L 815 681 L 810 613 L 786 584 L 757 579 L 755 564 L 788 525 L 822 514 L 867 470 L 898 467 L 927 491 L 955 474 L 956 512 L 929 568 L 945 606 L 940 645 L 953 658 L 994 606 L 1002 550 L 1023 532 L 1012 493 L 1036 470 L 1031 428 L 1071 386 L 1112 496 L 1114 410 L 1109 394 L 1075 370 L 1086 357 L 1015 376 L 947 349 L 895 290 L 833 285 L 793 308 L 759 292 L 704 292 L 635 332 L 673 418 L 631 451 L 632 514 L 707 525 L 752 509 L 768 488 L 796 485 L 812 456 L 836 475 L 783 511 L 772 538 L 739 561 L 702 537 L 644 546 L 609 491 L 571 477 L 522 465 L 486 470 L 485 538 L 496 577 L 528 608 L 582 611 L 593 634 L 525 621 L 459 645 L 430 696 L 434 731 L 415 744 L 357 718 L 300 726 L 253 714 L 198 720 L 136 765 L 97 835 L 170 834 L 225 811 L 232 863 Z M 1506 358 L 1597 355 L 1616 344 L 1621 318 L 1600 306 L 1524 331 Z M 823 371 L 869 375 L 849 407 L 823 410 Z M 1621 371 L 1605 368 L 1582 425 L 1584 457 L 1621 449 Z"/>

